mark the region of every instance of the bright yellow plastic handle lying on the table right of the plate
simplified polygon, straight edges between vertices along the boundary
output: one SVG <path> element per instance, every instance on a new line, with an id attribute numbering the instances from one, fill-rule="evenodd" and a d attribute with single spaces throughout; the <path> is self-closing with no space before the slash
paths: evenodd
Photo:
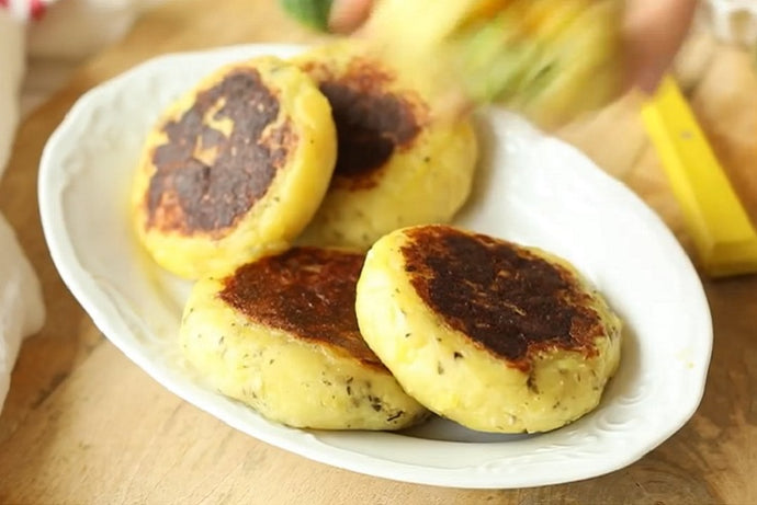
<path id="1" fill-rule="evenodd" d="M 665 78 L 642 117 L 704 272 L 757 272 L 757 232 L 673 78 Z"/>

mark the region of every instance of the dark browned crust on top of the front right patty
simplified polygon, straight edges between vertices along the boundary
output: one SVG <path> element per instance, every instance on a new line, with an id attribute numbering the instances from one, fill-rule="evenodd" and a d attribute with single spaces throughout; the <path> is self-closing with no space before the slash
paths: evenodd
<path id="1" fill-rule="evenodd" d="M 405 269 L 422 301 L 476 346 L 523 370 L 546 349 L 597 354 L 605 334 L 575 274 L 513 243 L 445 226 L 411 228 Z"/>

